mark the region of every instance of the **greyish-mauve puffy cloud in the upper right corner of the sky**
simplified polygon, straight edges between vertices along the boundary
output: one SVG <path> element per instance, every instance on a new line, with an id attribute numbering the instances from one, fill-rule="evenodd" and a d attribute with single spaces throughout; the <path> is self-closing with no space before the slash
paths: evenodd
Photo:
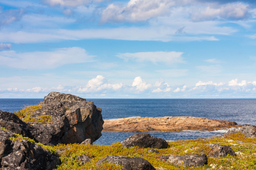
<path id="1" fill-rule="evenodd" d="M 193 21 L 213 20 L 218 18 L 241 20 L 248 17 L 249 5 L 244 3 L 227 3 L 206 6 L 203 9 L 197 8 L 197 11 L 191 14 Z M 215 6 L 214 6 L 215 5 Z"/>

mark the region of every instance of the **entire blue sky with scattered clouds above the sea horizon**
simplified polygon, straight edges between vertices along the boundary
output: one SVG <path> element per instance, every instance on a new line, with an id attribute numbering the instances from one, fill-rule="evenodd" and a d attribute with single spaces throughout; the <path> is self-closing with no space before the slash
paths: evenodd
<path id="1" fill-rule="evenodd" d="M 256 98 L 255 0 L 0 0 L 0 98 Z"/>

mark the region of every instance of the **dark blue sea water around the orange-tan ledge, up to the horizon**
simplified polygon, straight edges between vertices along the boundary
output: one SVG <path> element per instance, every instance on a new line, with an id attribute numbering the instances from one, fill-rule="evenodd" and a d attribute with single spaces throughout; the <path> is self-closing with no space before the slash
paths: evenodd
<path id="1" fill-rule="evenodd" d="M 37 105 L 44 99 L 0 99 L 0 110 L 15 112 L 24 105 Z M 86 99 L 102 108 L 102 118 L 117 119 L 132 116 L 194 116 L 208 119 L 234 121 L 239 125 L 256 125 L 256 99 Z M 228 129 L 179 132 L 147 132 L 165 140 L 206 138 L 226 133 Z M 135 133 L 102 131 L 93 144 L 110 145 L 121 142 Z"/>

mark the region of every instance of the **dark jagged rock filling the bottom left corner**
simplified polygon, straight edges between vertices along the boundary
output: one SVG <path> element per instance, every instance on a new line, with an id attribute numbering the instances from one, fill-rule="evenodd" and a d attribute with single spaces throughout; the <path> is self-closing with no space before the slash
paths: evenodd
<path id="1" fill-rule="evenodd" d="M 0 129 L 0 169 L 1 170 L 52 170 L 60 164 L 53 155 L 37 144 L 25 139 L 12 141 L 14 134 Z"/>

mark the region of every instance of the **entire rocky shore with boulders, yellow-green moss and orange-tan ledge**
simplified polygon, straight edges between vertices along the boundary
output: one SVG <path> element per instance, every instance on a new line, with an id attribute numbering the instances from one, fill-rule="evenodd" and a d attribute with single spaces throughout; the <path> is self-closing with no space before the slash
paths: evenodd
<path id="1" fill-rule="evenodd" d="M 221 158 L 228 156 L 233 164 L 236 159 L 244 160 L 241 154 L 256 155 L 256 126 L 238 126 L 236 122 L 196 117 L 131 117 L 104 122 L 101 109 L 93 102 L 51 92 L 43 102 L 15 114 L 0 111 L 0 170 L 221 169 L 221 162 L 227 160 L 219 161 Z M 166 142 L 137 133 L 111 146 L 93 145 L 103 127 L 119 131 L 235 128 L 207 139 Z M 252 160 L 248 166 L 256 162 L 248 160 Z"/>

